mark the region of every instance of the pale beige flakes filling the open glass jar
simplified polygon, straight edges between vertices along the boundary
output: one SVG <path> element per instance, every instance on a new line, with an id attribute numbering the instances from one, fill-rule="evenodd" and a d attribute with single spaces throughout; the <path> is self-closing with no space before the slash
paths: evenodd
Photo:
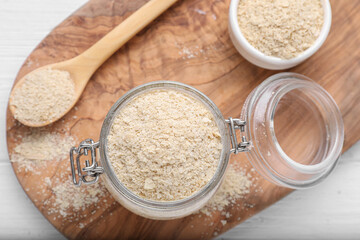
<path id="1" fill-rule="evenodd" d="M 214 176 L 222 149 L 213 113 L 178 90 L 151 90 L 117 113 L 108 156 L 119 180 L 154 201 L 184 199 Z"/>

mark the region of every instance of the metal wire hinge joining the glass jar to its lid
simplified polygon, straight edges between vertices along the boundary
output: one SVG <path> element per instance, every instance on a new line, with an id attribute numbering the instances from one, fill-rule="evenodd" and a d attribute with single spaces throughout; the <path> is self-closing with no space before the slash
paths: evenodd
<path id="1" fill-rule="evenodd" d="M 231 139 L 231 146 L 232 149 L 230 150 L 230 152 L 232 153 L 239 153 L 239 152 L 248 152 L 249 151 L 249 146 L 250 146 L 250 142 L 248 142 L 246 140 L 246 137 L 244 135 L 241 136 L 241 142 L 238 143 L 237 141 L 237 137 L 236 137 L 236 129 L 240 129 L 240 132 L 243 133 L 245 131 L 245 125 L 246 122 L 242 121 L 240 119 L 237 118 L 231 118 L 229 117 L 229 119 L 226 119 L 225 122 L 227 124 L 229 124 L 229 132 L 230 132 L 230 139 Z"/>

